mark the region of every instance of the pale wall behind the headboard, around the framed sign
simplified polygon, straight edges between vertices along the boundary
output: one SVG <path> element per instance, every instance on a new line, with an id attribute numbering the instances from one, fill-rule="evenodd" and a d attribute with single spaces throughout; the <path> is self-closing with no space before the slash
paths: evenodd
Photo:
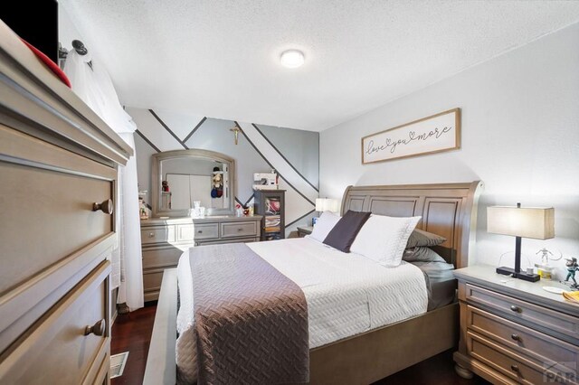
<path id="1" fill-rule="evenodd" d="M 523 239 L 525 257 L 546 247 L 579 257 L 579 23 L 397 99 L 320 135 L 320 196 L 349 184 L 470 182 L 480 179 L 475 258 L 498 265 L 512 237 L 486 232 L 486 207 L 555 207 L 555 239 Z M 451 109 L 462 110 L 462 148 L 361 164 L 360 138 Z M 512 266 L 513 253 L 501 265 Z M 556 262 L 559 277 L 565 261 Z M 565 276 L 564 276 L 565 277 Z"/>

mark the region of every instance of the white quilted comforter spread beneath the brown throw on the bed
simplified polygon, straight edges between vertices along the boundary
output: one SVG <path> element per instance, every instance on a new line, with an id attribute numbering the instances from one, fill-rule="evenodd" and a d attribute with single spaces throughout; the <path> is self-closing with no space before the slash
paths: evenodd
<path id="1" fill-rule="evenodd" d="M 424 275 L 410 263 L 384 268 L 372 259 L 331 249 L 308 237 L 248 246 L 301 287 L 308 303 L 310 348 L 426 312 Z M 188 251 L 179 260 L 177 277 L 181 306 L 176 362 L 180 380 L 193 382 L 197 367 Z"/>

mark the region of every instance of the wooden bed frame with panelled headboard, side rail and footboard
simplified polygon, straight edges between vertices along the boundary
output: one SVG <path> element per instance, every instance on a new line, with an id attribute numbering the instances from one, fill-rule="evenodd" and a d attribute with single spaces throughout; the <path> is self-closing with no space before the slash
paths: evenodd
<path id="1" fill-rule="evenodd" d="M 350 186 L 342 212 L 422 216 L 418 229 L 447 239 L 436 251 L 457 268 L 468 265 L 481 183 Z M 147 358 L 144 383 L 176 381 L 176 271 L 166 270 Z M 456 345 L 456 303 L 436 307 L 394 324 L 356 333 L 332 343 L 314 344 L 309 379 L 314 384 L 366 384 Z"/>

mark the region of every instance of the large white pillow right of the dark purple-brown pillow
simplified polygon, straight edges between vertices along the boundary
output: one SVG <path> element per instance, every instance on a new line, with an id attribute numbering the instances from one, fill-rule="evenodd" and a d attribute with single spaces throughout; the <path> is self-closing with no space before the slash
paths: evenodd
<path id="1" fill-rule="evenodd" d="M 372 215 L 356 235 L 350 251 L 387 267 L 400 265 L 406 242 L 421 217 Z"/>

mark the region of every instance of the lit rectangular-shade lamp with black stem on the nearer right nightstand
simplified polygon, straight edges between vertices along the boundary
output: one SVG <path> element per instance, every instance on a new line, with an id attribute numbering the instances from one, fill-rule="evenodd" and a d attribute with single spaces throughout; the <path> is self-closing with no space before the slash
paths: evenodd
<path id="1" fill-rule="evenodd" d="M 521 238 L 551 239 L 555 237 L 555 209 L 492 206 L 487 208 L 487 231 L 515 237 L 515 268 L 497 268 L 504 274 L 529 282 L 540 279 L 537 274 L 521 271 Z"/>

